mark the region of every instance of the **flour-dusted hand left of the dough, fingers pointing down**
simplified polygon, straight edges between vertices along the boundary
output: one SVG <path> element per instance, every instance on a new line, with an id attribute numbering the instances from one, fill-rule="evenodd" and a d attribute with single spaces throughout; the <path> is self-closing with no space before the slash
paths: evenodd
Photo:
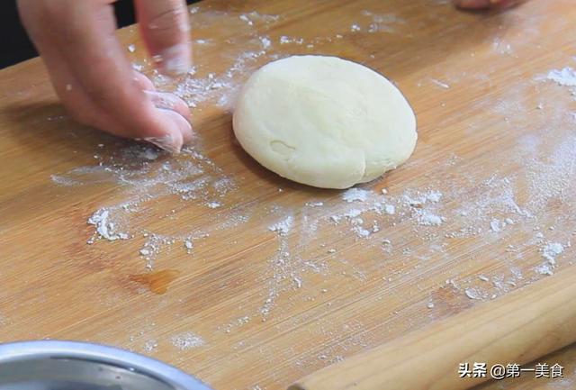
<path id="1" fill-rule="evenodd" d="M 23 23 L 62 103 L 78 122 L 178 152 L 193 138 L 183 100 L 155 91 L 116 39 L 114 0 L 18 0 Z M 135 0 L 150 55 L 166 74 L 190 67 L 184 0 Z"/>

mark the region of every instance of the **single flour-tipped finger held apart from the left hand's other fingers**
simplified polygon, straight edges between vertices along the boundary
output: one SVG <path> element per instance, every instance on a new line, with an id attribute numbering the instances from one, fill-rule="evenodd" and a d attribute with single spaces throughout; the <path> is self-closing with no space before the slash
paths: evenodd
<path id="1" fill-rule="evenodd" d="M 191 67 L 190 21 L 184 0 L 136 0 L 142 37 L 150 55 L 170 75 Z"/>

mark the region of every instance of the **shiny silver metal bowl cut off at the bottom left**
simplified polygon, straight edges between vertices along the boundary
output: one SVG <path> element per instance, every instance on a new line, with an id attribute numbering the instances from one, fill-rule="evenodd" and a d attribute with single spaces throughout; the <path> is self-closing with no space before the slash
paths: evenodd
<path id="1" fill-rule="evenodd" d="M 211 390 L 153 358 L 74 341 L 0 345 L 0 390 Z"/>

